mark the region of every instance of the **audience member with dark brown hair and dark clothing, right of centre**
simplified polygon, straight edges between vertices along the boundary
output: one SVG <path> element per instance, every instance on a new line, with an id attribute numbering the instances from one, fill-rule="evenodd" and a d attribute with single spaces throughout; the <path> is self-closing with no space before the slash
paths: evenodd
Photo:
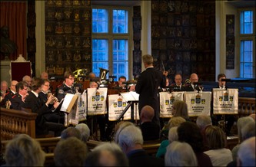
<path id="1" fill-rule="evenodd" d="M 181 123 L 178 126 L 178 140 L 188 142 L 194 150 L 194 154 L 198 159 L 198 166 L 212 166 L 211 159 L 204 151 L 203 136 L 197 124 L 190 121 Z"/>

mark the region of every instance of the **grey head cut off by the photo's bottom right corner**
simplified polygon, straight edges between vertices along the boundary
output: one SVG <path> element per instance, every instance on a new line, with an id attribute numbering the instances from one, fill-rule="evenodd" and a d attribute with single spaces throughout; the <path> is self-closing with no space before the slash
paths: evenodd
<path id="1" fill-rule="evenodd" d="M 241 142 L 238 149 L 237 166 L 256 166 L 255 136 Z"/>

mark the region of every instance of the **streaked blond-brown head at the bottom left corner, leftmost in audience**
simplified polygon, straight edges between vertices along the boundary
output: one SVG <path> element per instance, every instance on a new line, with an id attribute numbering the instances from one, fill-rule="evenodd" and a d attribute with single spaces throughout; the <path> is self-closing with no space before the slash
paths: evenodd
<path id="1" fill-rule="evenodd" d="M 5 148 L 6 166 L 43 166 L 45 152 L 38 141 L 26 134 L 19 134 Z"/>

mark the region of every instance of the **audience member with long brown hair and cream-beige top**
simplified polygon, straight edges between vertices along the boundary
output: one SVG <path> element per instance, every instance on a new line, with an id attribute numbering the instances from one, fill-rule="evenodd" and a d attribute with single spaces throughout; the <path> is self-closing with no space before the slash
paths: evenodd
<path id="1" fill-rule="evenodd" d="M 226 166 L 233 160 L 230 149 L 226 149 L 227 137 L 224 131 L 218 126 L 208 126 L 205 129 L 206 139 L 208 140 L 209 150 L 207 154 L 214 166 Z"/>

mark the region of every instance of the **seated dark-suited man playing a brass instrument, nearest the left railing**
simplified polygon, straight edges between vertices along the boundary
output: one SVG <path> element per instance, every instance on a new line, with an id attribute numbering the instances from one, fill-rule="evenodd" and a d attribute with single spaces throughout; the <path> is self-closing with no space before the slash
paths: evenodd
<path id="1" fill-rule="evenodd" d="M 51 123 L 47 122 L 44 118 L 45 113 L 50 113 L 52 110 L 48 109 L 49 103 L 54 99 L 53 95 L 48 97 L 48 100 L 43 105 L 40 105 L 40 99 L 38 98 L 38 93 L 42 90 L 42 85 L 44 80 L 41 78 L 35 78 L 32 80 L 32 91 L 28 92 L 28 97 L 25 99 L 25 108 L 31 109 L 32 113 L 37 113 L 35 120 L 35 133 L 37 135 L 42 135 L 48 133 L 48 130 L 54 131 L 55 136 L 60 136 L 62 130 L 65 129 L 64 125 L 61 123 Z M 54 103 L 53 106 L 56 108 L 58 103 Z"/>

